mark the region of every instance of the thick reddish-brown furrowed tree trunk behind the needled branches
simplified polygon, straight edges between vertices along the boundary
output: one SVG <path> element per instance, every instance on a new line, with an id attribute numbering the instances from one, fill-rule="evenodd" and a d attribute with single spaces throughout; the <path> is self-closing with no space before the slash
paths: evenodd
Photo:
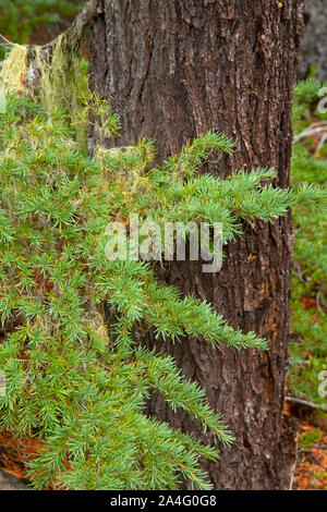
<path id="1" fill-rule="evenodd" d="M 155 138 L 161 160 L 214 129 L 231 135 L 237 150 L 211 163 L 210 172 L 226 176 L 235 168 L 274 167 L 277 184 L 289 184 L 300 0 L 105 0 L 104 5 L 92 29 L 92 80 L 123 124 L 122 137 L 108 146 Z M 220 272 L 202 273 L 194 261 L 160 272 L 183 293 L 210 301 L 233 327 L 269 339 L 263 354 L 214 351 L 198 340 L 159 346 L 206 389 L 237 438 L 219 464 L 204 463 L 216 489 L 284 485 L 291 239 L 290 218 L 246 224 L 228 246 Z M 159 397 L 149 412 L 201 436 L 199 426 L 173 414 Z"/>

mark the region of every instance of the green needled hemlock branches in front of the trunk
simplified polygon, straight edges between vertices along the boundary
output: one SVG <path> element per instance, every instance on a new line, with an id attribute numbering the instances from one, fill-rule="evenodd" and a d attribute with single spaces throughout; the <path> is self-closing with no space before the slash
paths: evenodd
<path id="1" fill-rule="evenodd" d="M 99 134 L 118 119 L 94 95 L 84 97 L 100 120 Z M 43 449 L 28 463 L 35 488 L 174 489 L 181 477 L 208 489 L 199 458 L 218 458 L 233 438 L 198 385 L 173 359 L 149 352 L 143 329 L 178 342 L 183 336 L 231 350 L 267 349 L 255 333 L 229 327 L 207 303 L 181 297 L 156 280 L 149 264 L 109 261 L 106 227 L 131 212 L 142 219 L 222 223 L 223 241 L 242 220 L 274 221 L 299 200 L 325 193 L 275 188 L 272 170 L 197 175 L 203 161 L 233 143 L 208 132 L 180 155 L 154 167 L 150 141 L 94 158 L 76 143 L 70 119 L 47 114 L 24 95 L 8 96 L 0 114 L 0 428 L 37 436 Z M 149 418 L 153 392 L 182 407 L 213 432 L 215 446 Z"/>

